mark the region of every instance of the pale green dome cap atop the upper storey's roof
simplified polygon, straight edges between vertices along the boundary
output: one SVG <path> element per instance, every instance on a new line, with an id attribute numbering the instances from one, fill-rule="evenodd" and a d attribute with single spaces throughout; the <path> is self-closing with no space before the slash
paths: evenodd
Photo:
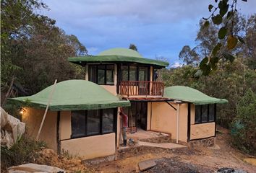
<path id="1" fill-rule="evenodd" d="M 128 48 L 111 48 L 111 49 L 102 51 L 101 53 L 98 54 L 98 56 L 130 56 L 130 57 L 142 58 L 140 53 Z"/>

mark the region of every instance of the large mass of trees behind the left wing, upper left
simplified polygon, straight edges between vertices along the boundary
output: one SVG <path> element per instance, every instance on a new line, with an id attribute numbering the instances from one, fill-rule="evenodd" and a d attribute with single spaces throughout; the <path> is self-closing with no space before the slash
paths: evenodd
<path id="1" fill-rule="evenodd" d="M 84 70 L 67 61 L 87 50 L 74 35 L 66 35 L 55 20 L 37 14 L 47 9 L 40 0 L 1 1 L 1 91 L 12 76 L 34 94 L 55 79 L 82 79 Z"/>

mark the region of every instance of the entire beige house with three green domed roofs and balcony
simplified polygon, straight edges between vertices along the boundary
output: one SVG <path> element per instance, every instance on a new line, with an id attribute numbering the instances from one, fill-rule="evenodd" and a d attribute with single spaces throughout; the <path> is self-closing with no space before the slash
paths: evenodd
<path id="1" fill-rule="evenodd" d="M 121 144 L 119 107 L 128 115 L 128 131 L 151 130 L 171 134 L 176 143 L 216 135 L 216 104 L 226 99 L 209 97 L 187 86 L 164 88 L 158 69 L 168 63 L 143 58 L 137 51 L 114 48 L 98 56 L 68 59 L 85 68 L 85 80 L 61 81 L 46 115 L 40 139 L 56 151 L 93 159 L 111 156 Z M 23 107 L 28 132 L 38 132 L 53 86 L 13 102 Z"/>

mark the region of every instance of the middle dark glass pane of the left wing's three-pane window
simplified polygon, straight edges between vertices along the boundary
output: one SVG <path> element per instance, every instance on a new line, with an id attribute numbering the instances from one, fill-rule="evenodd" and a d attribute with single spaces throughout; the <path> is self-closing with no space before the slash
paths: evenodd
<path id="1" fill-rule="evenodd" d="M 100 133 L 100 114 L 99 110 L 88 110 L 88 136 L 96 135 Z"/>

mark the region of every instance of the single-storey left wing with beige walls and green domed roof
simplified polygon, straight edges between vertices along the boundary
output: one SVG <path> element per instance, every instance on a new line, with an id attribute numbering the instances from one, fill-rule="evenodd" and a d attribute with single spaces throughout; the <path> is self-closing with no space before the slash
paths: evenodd
<path id="1" fill-rule="evenodd" d="M 32 96 L 9 99 L 23 105 L 22 122 L 26 123 L 30 136 L 38 134 L 53 88 L 51 85 Z M 61 81 L 55 86 L 39 139 L 55 151 L 68 151 L 84 159 L 114 155 L 117 107 L 129 105 L 129 101 L 93 82 Z"/>

